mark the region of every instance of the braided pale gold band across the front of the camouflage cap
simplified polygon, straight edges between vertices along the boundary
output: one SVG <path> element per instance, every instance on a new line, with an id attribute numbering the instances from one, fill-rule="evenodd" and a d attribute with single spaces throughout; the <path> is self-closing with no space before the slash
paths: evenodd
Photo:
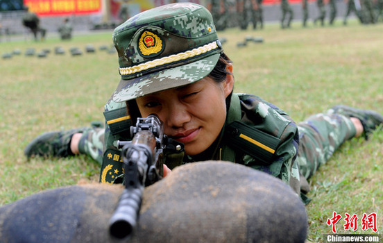
<path id="1" fill-rule="evenodd" d="M 145 62 L 145 63 L 142 63 L 140 65 L 133 66 L 133 67 L 120 67 L 119 73 L 121 75 L 135 74 L 138 72 L 142 72 L 146 69 L 151 69 L 153 67 L 159 67 L 159 66 L 162 66 L 165 64 L 169 64 L 171 62 L 178 62 L 179 60 L 185 60 L 187 58 L 199 56 L 203 53 L 206 53 L 207 51 L 212 51 L 212 50 L 217 49 L 217 48 L 219 48 L 219 45 L 217 44 L 216 41 L 214 41 L 214 42 L 211 42 L 209 44 L 205 44 L 202 47 L 192 49 L 190 51 L 185 51 L 185 52 L 178 53 L 178 54 L 171 55 L 171 56 L 165 56 L 163 58 L 151 60 L 149 62 Z"/>

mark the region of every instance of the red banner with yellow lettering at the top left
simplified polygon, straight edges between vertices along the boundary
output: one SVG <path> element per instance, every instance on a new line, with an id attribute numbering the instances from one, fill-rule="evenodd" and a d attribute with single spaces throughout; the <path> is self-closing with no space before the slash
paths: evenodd
<path id="1" fill-rule="evenodd" d="M 101 0 L 24 0 L 37 15 L 85 15 L 101 11 Z"/>

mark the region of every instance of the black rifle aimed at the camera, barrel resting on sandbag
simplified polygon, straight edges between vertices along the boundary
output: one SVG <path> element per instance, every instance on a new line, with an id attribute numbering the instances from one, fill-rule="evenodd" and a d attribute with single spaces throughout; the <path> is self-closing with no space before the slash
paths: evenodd
<path id="1" fill-rule="evenodd" d="M 130 126 L 132 141 L 117 141 L 124 162 L 125 189 L 110 218 L 110 234 L 119 239 L 129 236 L 135 226 L 142 203 L 144 187 L 163 176 L 165 151 L 180 153 L 184 145 L 164 135 L 163 124 L 155 115 L 137 118 Z"/>

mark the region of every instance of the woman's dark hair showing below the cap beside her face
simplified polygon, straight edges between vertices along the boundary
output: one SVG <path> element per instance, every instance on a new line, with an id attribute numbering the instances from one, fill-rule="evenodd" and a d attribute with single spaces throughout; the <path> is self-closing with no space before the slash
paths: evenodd
<path id="1" fill-rule="evenodd" d="M 207 76 L 209 78 L 212 78 L 217 83 L 221 83 L 225 81 L 226 75 L 228 74 L 232 75 L 232 73 L 228 72 L 227 70 L 229 63 L 232 63 L 232 60 L 230 60 L 230 58 L 225 53 L 222 52 L 221 56 L 219 56 L 218 62 L 216 62 L 216 66 L 214 67 L 212 72 L 210 72 L 210 74 Z M 230 106 L 231 94 L 232 92 L 226 98 L 226 109 L 228 109 Z M 126 108 L 128 108 L 128 114 L 130 115 L 130 120 L 132 121 L 133 124 L 136 124 L 137 118 L 142 117 L 142 115 L 139 112 L 137 102 L 135 101 L 135 99 L 126 101 Z"/>

